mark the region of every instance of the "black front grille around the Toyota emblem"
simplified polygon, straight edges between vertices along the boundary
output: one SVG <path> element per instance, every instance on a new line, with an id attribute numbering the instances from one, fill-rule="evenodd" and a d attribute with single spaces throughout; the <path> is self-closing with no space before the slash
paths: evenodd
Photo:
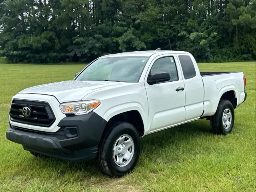
<path id="1" fill-rule="evenodd" d="M 22 108 L 25 106 L 31 109 L 28 117 L 22 114 Z M 47 102 L 14 99 L 10 109 L 10 119 L 13 122 L 50 127 L 55 121 L 55 116 Z"/>

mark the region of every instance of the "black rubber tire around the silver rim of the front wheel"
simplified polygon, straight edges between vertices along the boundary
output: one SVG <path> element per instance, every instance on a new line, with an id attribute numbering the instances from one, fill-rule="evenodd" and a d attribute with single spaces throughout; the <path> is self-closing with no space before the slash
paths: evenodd
<path id="1" fill-rule="evenodd" d="M 130 162 L 127 161 L 127 164 L 120 167 L 116 164 L 113 153 L 114 153 L 114 145 L 117 140 L 121 138 L 122 135 L 127 135 L 132 138 L 134 146 L 133 146 L 133 155 L 130 157 Z M 118 143 L 117 143 L 118 144 Z M 117 146 L 117 145 L 115 145 Z M 132 149 L 132 148 L 129 148 Z M 128 149 L 127 149 L 128 150 Z M 98 153 L 98 163 L 100 165 L 101 171 L 104 174 L 110 176 L 123 176 L 132 172 L 134 169 L 138 158 L 140 155 L 140 136 L 136 128 L 127 122 L 118 122 L 112 125 L 104 135 Z"/>

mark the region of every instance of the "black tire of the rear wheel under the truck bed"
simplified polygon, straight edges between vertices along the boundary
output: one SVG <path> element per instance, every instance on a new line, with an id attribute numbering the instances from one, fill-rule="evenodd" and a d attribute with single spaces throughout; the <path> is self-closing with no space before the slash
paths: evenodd
<path id="1" fill-rule="evenodd" d="M 230 118 L 227 118 L 227 120 L 230 120 L 229 126 L 224 125 L 222 119 L 223 113 L 226 109 L 228 109 L 227 111 L 231 113 L 231 120 Z M 229 100 L 220 100 L 216 113 L 210 118 L 210 126 L 212 128 L 212 132 L 214 132 L 214 134 L 222 135 L 230 133 L 234 125 L 234 120 L 235 113 L 232 103 Z"/>

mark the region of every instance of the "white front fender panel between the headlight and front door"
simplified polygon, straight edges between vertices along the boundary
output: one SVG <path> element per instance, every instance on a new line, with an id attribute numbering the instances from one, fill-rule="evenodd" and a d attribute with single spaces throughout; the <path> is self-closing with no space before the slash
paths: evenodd
<path id="1" fill-rule="evenodd" d="M 94 112 L 107 122 L 120 113 L 138 111 L 143 121 L 144 133 L 148 132 L 148 99 L 144 83 L 123 83 L 118 88 L 97 90 L 88 94 L 83 100 L 89 98 L 100 100 L 100 106 Z"/>

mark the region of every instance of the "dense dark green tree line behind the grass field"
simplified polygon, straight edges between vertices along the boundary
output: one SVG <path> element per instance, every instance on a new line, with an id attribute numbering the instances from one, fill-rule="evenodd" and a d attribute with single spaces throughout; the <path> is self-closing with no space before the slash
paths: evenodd
<path id="1" fill-rule="evenodd" d="M 256 59 L 255 0 L 0 0 L 0 56 L 91 61 L 183 50 L 200 62 Z"/>

